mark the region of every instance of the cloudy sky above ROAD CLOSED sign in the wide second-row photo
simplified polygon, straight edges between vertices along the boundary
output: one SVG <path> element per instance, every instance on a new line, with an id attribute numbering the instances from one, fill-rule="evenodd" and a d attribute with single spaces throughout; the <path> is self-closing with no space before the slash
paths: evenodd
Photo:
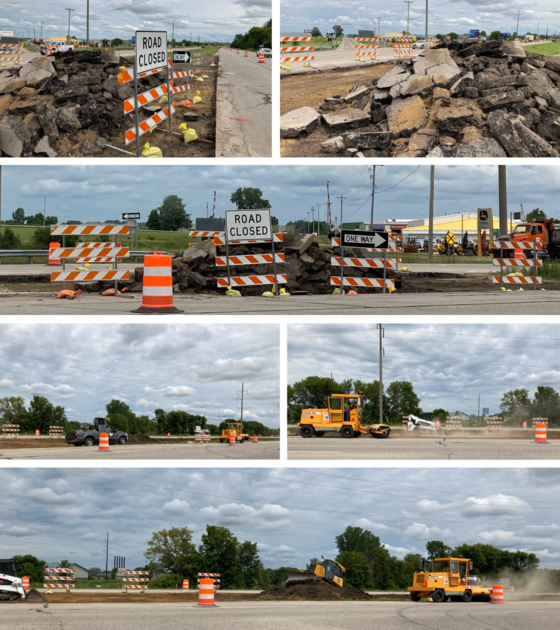
<path id="1" fill-rule="evenodd" d="M 120 219 L 122 212 L 140 212 L 146 220 L 166 195 L 178 195 L 191 217 L 205 217 L 212 209 L 216 190 L 216 216 L 224 216 L 238 188 L 256 187 L 270 201 L 280 223 L 307 218 L 311 206 L 320 205 L 326 216 L 330 182 L 332 214 L 340 216 L 344 195 L 345 221 L 368 220 L 371 207 L 371 167 L 367 166 L 4 166 L 2 216 L 24 208 L 27 215 L 43 211 L 59 221 Z M 508 211 L 544 209 L 557 211 L 560 193 L 559 166 L 511 166 L 507 169 Z M 375 218 L 425 218 L 428 216 L 429 166 L 377 167 Z M 473 212 L 498 208 L 497 166 L 437 166 L 435 214 Z M 317 214 L 315 214 L 317 217 Z"/>

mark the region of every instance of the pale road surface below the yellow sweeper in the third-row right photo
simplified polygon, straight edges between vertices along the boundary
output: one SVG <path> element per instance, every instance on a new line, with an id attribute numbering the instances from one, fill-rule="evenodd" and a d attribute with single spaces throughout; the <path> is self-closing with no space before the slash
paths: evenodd
<path id="1" fill-rule="evenodd" d="M 369 437 L 288 438 L 288 459 L 367 459 L 367 460 L 488 460 L 560 459 L 560 440 L 537 444 L 531 439 L 398 438 L 376 440 Z"/>

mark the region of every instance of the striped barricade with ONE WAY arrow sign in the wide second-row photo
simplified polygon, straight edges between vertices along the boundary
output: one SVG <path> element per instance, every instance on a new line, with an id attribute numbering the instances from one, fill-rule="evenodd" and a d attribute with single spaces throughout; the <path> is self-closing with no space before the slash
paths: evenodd
<path id="1" fill-rule="evenodd" d="M 340 247 L 340 256 L 332 256 L 331 257 L 331 266 L 340 267 L 340 274 L 331 275 L 330 284 L 331 286 L 335 286 L 340 288 L 341 291 L 344 290 L 344 287 L 363 287 L 363 288 L 375 288 L 382 289 L 383 293 L 386 292 L 388 288 L 394 289 L 395 282 L 394 280 L 387 279 L 387 269 L 398 269 L 395 265 L 398 265 L 398 262 L 395 260 L 390 260 L 387 258 L 388 252 L 394 252 L 397 250 L 395 247 L 395 242 L 392 240 L 391 234 L 388 232 L 383 232 L 381 234 L 381 230 L 371 230 L 367 231 L 371 232 L 371 234 L 366 233 L 366 231 L 353 231 L 353 230 L 344 230 L 342 236 L 344 236 L 345 240 L 352 240 L 352 247 L 357 247 L 359 249 L 365 249 L 366 251 L 379 251 L 383 252 L 383 258 L 354 258 L 344 256 L 344 245 L 341 236 L 335 236 L 332 238 L 332 246 Z M 383 247 L 375 247 L 371 248 L 369 245 L 383 245 Z M 349 245 L 347 245 L 348 247 Z M 361 268 L 361 269 L 383 269 L 383 278 L 360 278 L 353 276 L 345 276 L 344 269 L 347 267 Z"/>

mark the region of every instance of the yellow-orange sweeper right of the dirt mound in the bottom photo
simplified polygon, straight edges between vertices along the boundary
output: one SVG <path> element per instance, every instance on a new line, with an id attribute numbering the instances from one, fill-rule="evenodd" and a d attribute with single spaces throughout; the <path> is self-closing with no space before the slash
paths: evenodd
<path id="1" fill-rule="evenodd" d="M 469 571 L 472 561 L 466 558 L 436 558 L 431 562 L 422 559 L 422 569 L 414 574 L 412 586 L 408 587 L 410 599 L 419 602 L 423 597 L 431 597 L 436 603 L 449 599 L 492 601 L 492 589 L 470 584 Z"/>

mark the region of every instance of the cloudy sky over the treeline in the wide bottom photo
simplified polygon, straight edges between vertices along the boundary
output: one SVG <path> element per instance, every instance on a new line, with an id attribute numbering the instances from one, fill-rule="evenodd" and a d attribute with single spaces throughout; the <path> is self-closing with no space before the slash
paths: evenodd
<path id="1" fill-rule="evenodd" d="M 108 531 L 110 555 L 131 569 L 145 563 L 152 532 L 186 526 L 198 544 L 210 524 L 257 542 L 267 567 L 300 567 L 335 556 L 335 536 L 352 525 L 399 558 L 424 555 L 435 539 L 521 549 L 560 567 L 559 469 L 469 469 L 468 480 L 460 468 L 377 468 L 375 480 L 348 468 L 4 469 L 0 557 L 101 566 Z"/>

